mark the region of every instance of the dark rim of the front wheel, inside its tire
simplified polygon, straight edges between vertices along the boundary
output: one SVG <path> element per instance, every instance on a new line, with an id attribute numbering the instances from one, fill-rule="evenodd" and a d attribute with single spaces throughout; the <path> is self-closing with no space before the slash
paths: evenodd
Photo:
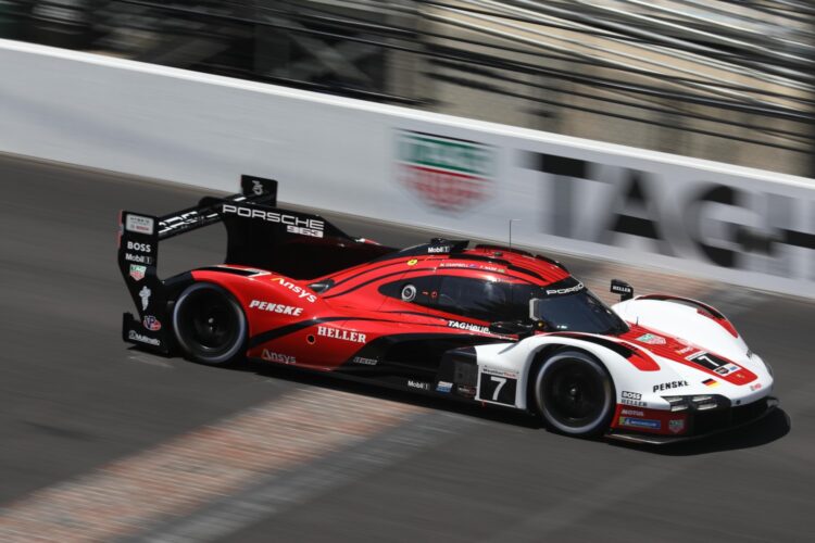
<path id="1" fill-rule="evenodd" d="M 606 391 L 602 377 L 582 361 L 557 361 L 543 387 L 547 412 L 568 428 L 584 428 L 602 417 Z"/>

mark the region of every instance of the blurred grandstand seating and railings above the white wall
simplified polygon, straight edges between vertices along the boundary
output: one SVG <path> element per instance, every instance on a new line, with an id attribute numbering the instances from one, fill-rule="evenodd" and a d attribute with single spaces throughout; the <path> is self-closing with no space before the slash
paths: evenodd
<path id="1" fill-rule="evenodd" d="M 805 0 L 2 0 L 0 36 L 815 176 Z"/>

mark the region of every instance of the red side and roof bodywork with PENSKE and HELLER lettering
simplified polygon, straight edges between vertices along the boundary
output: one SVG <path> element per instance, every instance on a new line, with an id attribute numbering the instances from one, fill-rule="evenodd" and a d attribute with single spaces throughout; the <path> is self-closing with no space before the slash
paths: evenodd
<path id="1" fill-rule="evenodd" d="M 251 270 L 241 266 L 222 268 L 224 273 L 196 270 L 192 277 L 222 286 L 243 307 L 250 337 L 247 355 L 324 370 L 349 363 L 364 345 L 394 334 L 506 339 L 490 333 L 487 320 L 385 295 L 383 285 L 444 276 L 546 286 L 569 276 L 551 262 L 492 249 L 468 250 L 462 257 L 397 256 L 308 281 L 262 270 L 249 276 L 229 273 Z M 331 286 L 323 292 L 309 287 L 326 281 Z M 423 294 L 432 299 L 435 293 Z"/>

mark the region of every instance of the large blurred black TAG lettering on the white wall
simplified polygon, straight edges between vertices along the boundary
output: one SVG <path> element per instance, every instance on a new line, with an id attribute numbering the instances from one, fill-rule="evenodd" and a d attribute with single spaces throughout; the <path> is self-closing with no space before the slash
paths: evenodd
<path id="1" fill-rule="evenodd" d="M 530 207 L 546 217 L 538 223 L 541 233 L 601 251 L 634 249 L 751 272 L 766 285 L 774 275 L 812 280 L 815 206 L 781 184 L 748 187 L 723 175 L 694 177 L 542 152 L 517 156 L 518 168 L 536 172 L 530 179 L 539 187 L 539 204 Z"/>

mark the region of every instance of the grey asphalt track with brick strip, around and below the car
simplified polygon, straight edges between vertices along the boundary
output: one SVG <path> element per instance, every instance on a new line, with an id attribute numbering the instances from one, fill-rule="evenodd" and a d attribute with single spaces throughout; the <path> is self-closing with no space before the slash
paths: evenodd
<path id="1" fill-rule="evenodd" d="M 773 364 L 782 411 L 680 446 L 581 441 L 491 409 L 130 350 L 116 213 L 201 192 L 9 156 L 0 187 L 2 541 L 813 541 L 811 301 L 659 276 L 731 317 Z M 171 244 L 163 270 L 221 262 L 217 232 Z M 563 260 L 589 278 L 620 270 Z"/>

